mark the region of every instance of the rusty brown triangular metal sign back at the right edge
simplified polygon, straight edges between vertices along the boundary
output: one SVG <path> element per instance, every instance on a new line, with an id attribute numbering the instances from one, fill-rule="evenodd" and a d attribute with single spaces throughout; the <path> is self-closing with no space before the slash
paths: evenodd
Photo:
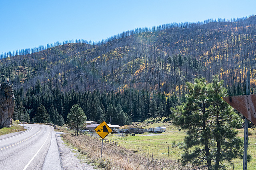
<path id="1" fill-rule="evenodd" d="M 256 94 L 226 96 L 222 99 L 256 125 Z"/>

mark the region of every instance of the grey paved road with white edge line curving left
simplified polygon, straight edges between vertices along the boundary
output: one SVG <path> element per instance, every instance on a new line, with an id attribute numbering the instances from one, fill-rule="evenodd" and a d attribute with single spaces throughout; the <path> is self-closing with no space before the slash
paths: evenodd
<path id="1" fill-rule="evenodd" d="M 61 170 L 53 127 L 26 124 L 28 130 L 0 136 L 0 169 Z"/>

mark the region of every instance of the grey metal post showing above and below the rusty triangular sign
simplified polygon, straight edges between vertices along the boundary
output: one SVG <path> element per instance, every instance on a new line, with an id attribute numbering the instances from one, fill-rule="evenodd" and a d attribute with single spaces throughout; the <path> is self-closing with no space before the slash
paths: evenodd
<path id="1" fill-rule="evenodd" d="M 247 72 L 246 95 L 250 94 L 250 71 Z M 247 170 L 247 149 L 248 149 L 248 119 L 244 119 L 244 162 L 243 170 Z"/>

